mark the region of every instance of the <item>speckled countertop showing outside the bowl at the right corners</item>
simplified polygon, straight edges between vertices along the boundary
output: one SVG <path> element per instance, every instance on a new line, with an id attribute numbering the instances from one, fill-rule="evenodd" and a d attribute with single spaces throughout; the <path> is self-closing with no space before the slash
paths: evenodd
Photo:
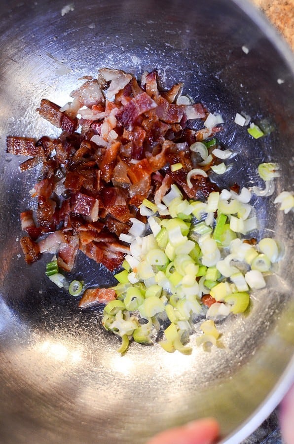
<path id="1" fill-rule="evenodd" d="M 294 50 L 294 0 L 252 0 Z M 284 444 L 278 408 L 241 444 Z"/>

